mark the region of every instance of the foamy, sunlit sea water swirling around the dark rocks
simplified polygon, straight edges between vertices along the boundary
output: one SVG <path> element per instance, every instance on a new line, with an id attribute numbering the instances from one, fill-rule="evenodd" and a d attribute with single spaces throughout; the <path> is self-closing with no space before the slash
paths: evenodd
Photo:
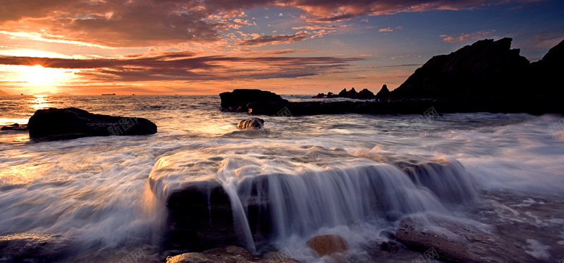
<path id="1" fill-rule="evenodd" d="M 285 175 L 269 188 L 271 202 L 281 203 L 272 213 L 273 238 L 254 239 L 248 215 L 233 210 L 240 238 L 259 256 L 285 251 L 302 262 L 331 262 L 315 257 L 306 241 L 338 234 L 349 244 L 350 262 L 373 262 L 369 242 L 385 240 L 381 233 L 395 231 L 406 216 L 432 214 L 510 236 L 539 262 L 564 257 L 563 116 L 435 108 L 412 115 L 290 112 L 258 116 L 264 130 L 257 131 L 238 130 L 249 116 L 223 112 L 219 104 L 219 96 L 203 95 L 0 97 L 0 125 L 27 123 L 37 109 L 73 106 L 158 126 L 154 135 L 54 142 L 1 131 L 0 236 L 71 240 L 73 253 L 61 262 L 118 262 L 133 251 L 143 255 L 137 262 L 164 262 L 176 251 L 161 245 L 166 211 L 148 178 L 166 166 L 178 178 L 163 188 L 205 173 L 241 204 L 248 178 Z M 418 184 L 396 167 L 413 160 L 453 170 Z M 374 173 L 379 181 L 362 181 Z M 372 202 L 378 212 L 370 211 Z M 378 262 L 416 257 L 399 253 Z"/>

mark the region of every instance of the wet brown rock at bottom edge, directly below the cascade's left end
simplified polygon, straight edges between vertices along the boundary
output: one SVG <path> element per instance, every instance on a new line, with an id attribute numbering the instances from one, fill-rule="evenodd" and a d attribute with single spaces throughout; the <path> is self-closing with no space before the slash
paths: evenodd
<path id="1" fill-rule="evenodd" d="M 286 256 L 286 255 L 282 255 Z M 170 257 L 166 263 L 245 263 L 245 262 L 269 262 L 269 263 L 299 263 L 298 260 L 286 257 L 272 257 L 259 259 L 254 257 L 243 247 L 228 246 L 226 248 L 214 248 L 204 252 L 191 252 Z"/>

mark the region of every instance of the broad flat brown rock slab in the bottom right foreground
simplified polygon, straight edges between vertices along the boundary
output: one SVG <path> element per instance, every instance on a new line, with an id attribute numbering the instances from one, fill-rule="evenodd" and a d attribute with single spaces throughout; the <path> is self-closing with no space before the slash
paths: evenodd
<path id="1" fill-rule="evenodd" d="M 435 230 L 417 219 L 404 219 L 396 232 L 398 241 L 427 257 L 450 262 L 537 262 L 525 253 L 526 247 L 502 240 L 475 226 L 439 218 L 429 221 Z M 436 226 L 440 226 L 441 231 L 436 230 Z"/>

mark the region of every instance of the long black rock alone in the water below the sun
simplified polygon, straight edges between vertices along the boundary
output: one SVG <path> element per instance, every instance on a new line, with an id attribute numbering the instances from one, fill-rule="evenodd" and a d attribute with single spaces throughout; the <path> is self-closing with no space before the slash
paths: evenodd
<path id="1" fill-rule="evenodd" d="M 31 116 L 27 127 L 30 138 L 39 141 L 157 133 L 157 125 L 146 118 L 91 114 L 76 108 L 40 109 Z"/>

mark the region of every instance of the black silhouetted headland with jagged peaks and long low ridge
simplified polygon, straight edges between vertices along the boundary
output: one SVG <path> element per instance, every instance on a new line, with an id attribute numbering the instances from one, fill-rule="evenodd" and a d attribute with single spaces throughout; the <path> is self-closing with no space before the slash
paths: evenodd
<path id="1" fill-rule="evenodd" d="M 485 39 L 451 54 L 434 56 L 396 90 L 382 87 L 374 101 L 286 102 L 257 97 L 235 103 L 229 109 L 252 115 L 276 115 L 285 109 L 292 116 L 424 114 L 431 107 L 441 113 L 564 114 L 564 89 L 555 84 L 564 71 L 564 64 L 560 63 L 564 61 L 564 41 L 534 63 L 520 56 L 519 49 L 511 49 L 511 41 Z M 336 95 L 320 93 L 315 97 L 368 99 L 370 94 L 345 89 Z M 221 101 L 223 105 L 223 97 Z"/>

